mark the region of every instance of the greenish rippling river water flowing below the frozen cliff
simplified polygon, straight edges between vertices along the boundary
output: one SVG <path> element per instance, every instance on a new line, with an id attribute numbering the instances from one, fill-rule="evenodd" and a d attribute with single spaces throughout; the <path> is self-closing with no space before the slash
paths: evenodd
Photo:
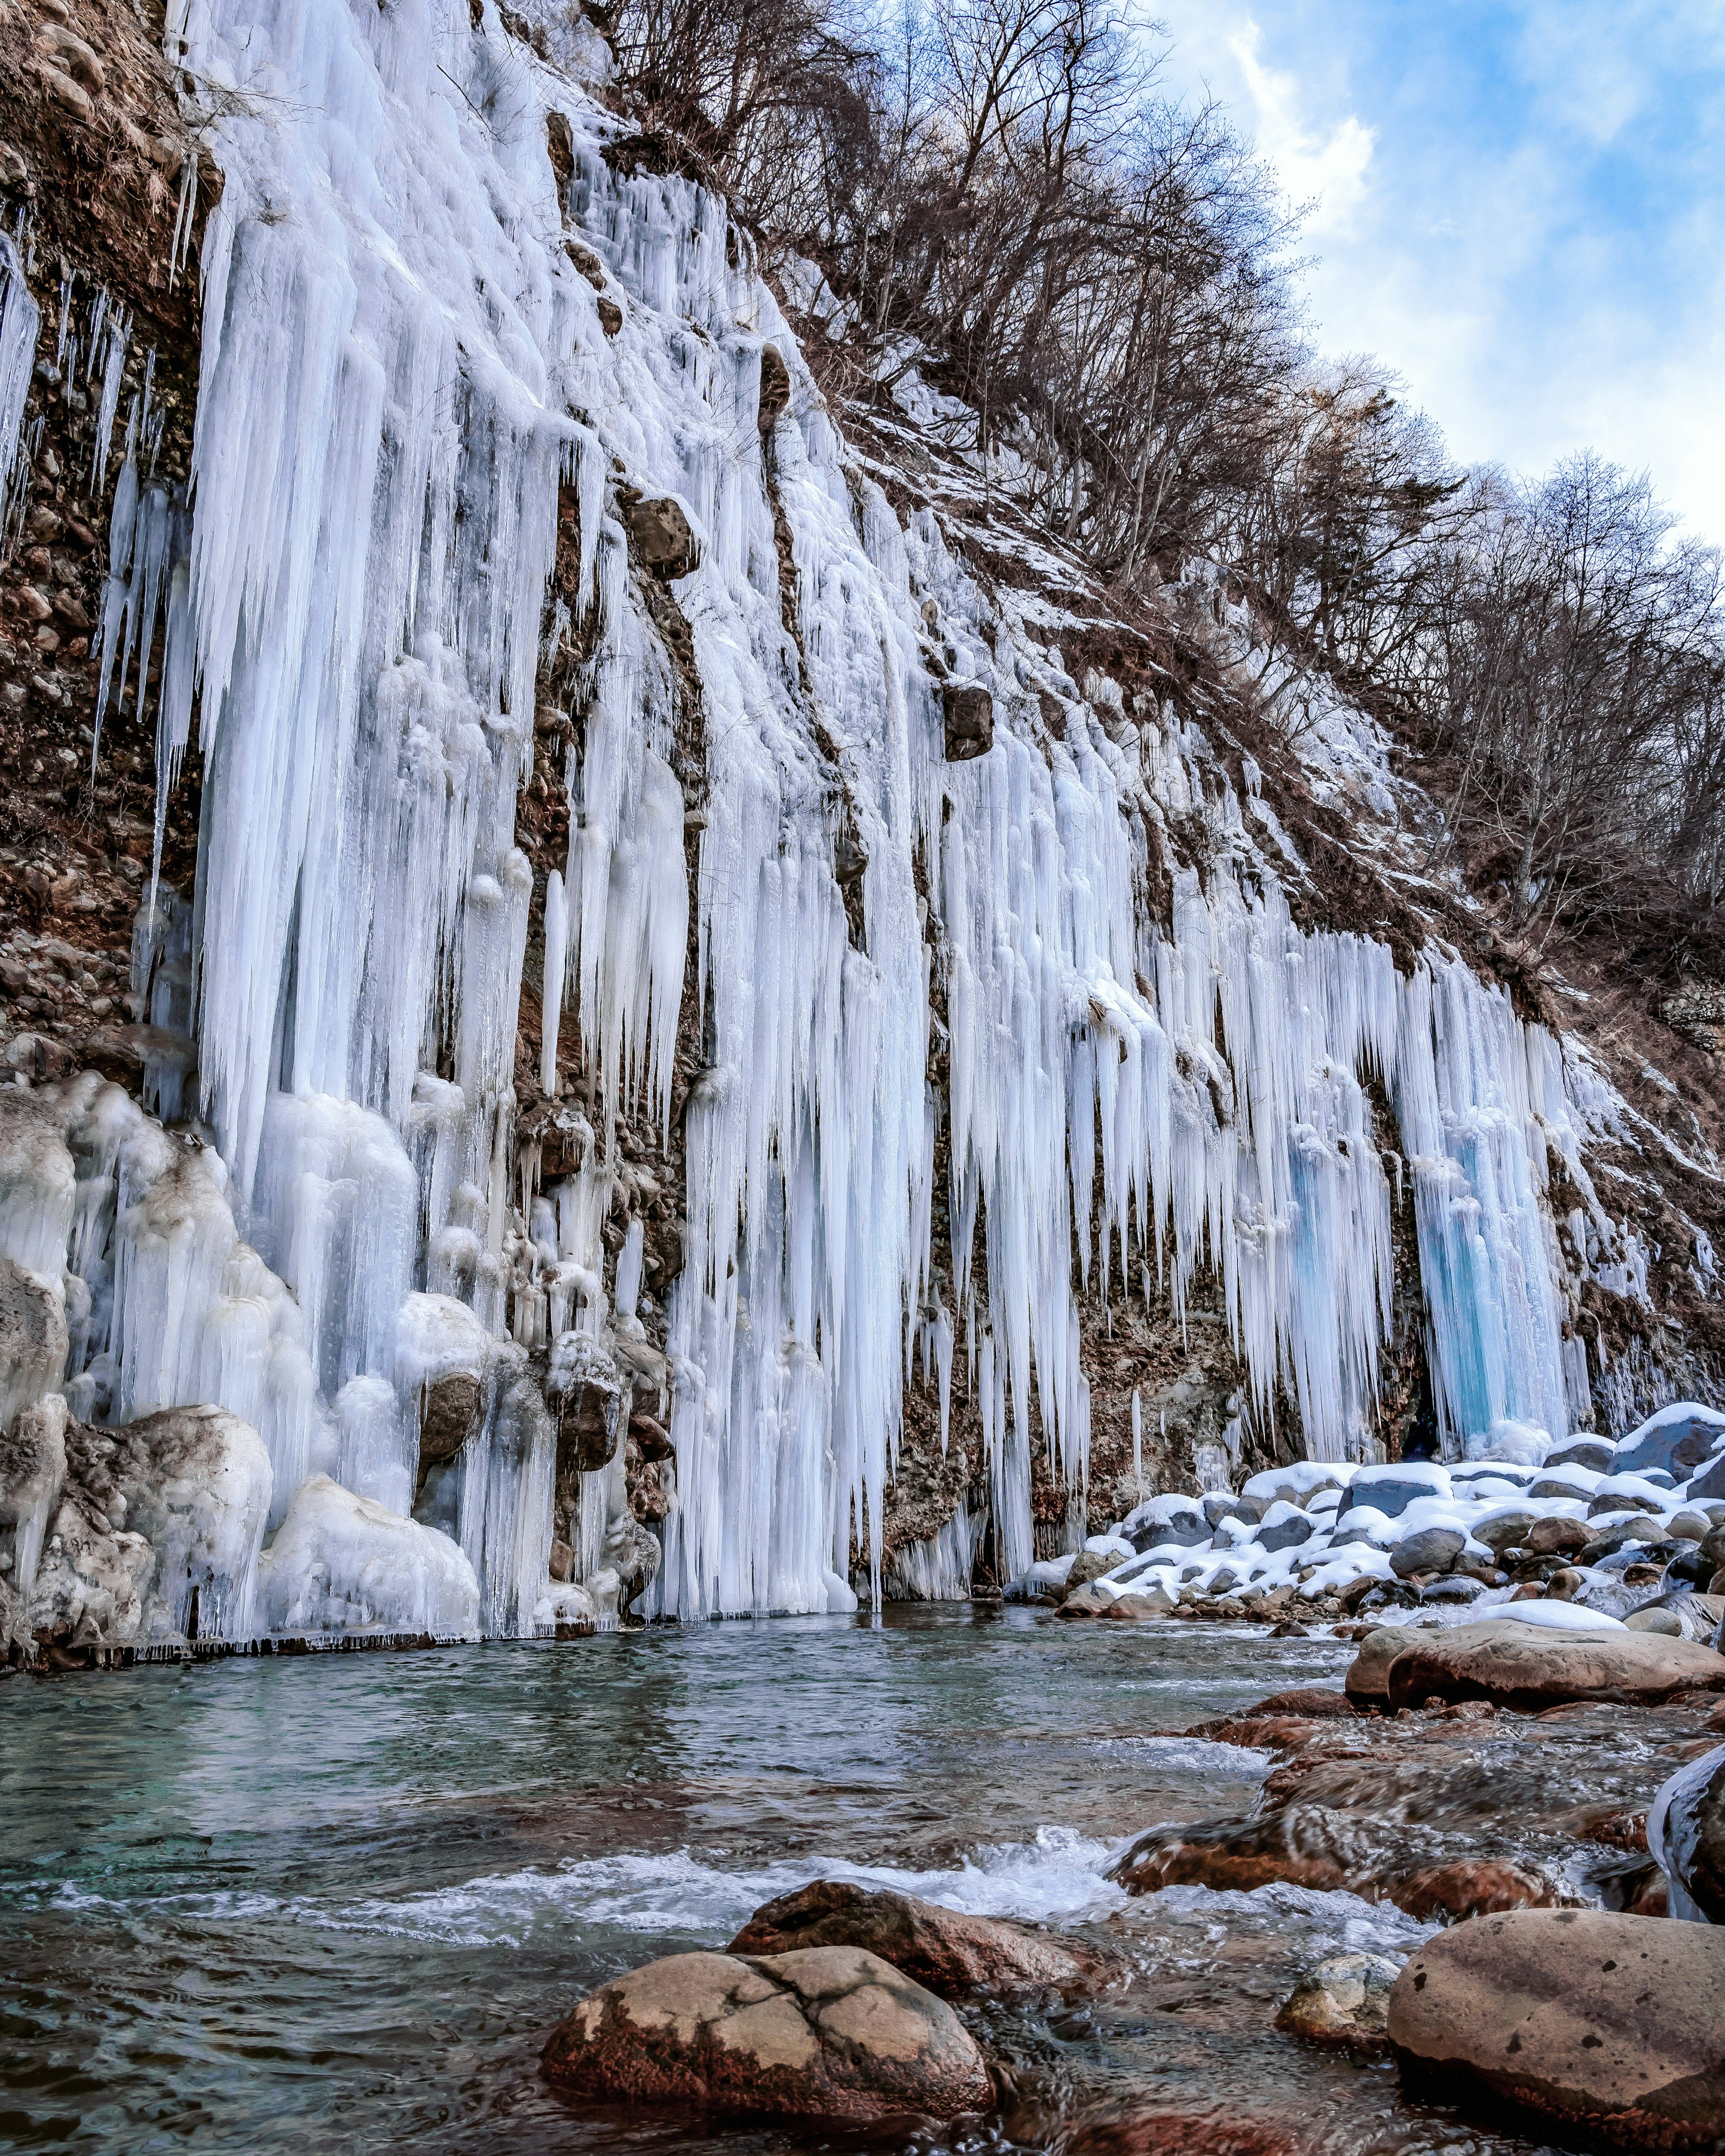
<path id="1" fill-rule="evenodd" d="M 1145 1826 L 1242 1809 L 1270 1764 L 1154 1731 L 1339 1684 L 1350 1651 L 897 1606 L 13 1680 L 0 2147 L 841 2147 L 595 2113 L 535 2072 L 595 1981 L 837 1876 L 1072 1927 L 1136 1971 L 1054 2018 L 981 2009 L 1020 2096 L 955 2150 L 1059 2147 L 1098 2106 L 1138 2106 L 1266 2115 L 1311 2156 L 1524 2152 L 1272 2029 L 1322 1953 L 1423 1936 L 1395 1908 L 1128 1902 L 1104 1878 Z"/>

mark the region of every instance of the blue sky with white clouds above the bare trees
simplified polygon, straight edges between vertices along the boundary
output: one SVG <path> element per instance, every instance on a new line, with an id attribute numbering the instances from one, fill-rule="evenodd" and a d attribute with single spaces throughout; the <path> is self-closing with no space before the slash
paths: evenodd
<path id="1" fill-rule="evenodd" d="M 1725 545 L 1725 0 L 1149 0 L 1309 203 L 1311 332 L 1453 455 L 1598 448 Z"/>

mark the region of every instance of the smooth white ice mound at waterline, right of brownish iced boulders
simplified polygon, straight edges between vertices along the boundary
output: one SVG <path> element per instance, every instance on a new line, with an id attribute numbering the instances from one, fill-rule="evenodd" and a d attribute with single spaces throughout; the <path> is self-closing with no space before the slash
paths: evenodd
<path id="1" fill-rule="evenodd" d="M 448 1535 L 313 1475 L 263 1552 L 259 1606 L 270 1632 L 468 1636 L 479 1580 Z"/>

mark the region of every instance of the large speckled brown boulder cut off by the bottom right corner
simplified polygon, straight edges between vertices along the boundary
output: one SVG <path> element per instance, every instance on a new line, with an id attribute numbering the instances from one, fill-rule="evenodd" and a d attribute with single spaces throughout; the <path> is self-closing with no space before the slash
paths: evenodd
<path id="1" fill-rule="evenodd" d="M 1518 1910 L 1425 1940 L 1391 1992 L 1389 2040 L 1410 2093 L 1514 2104 L 1565 2145 L 1710 2150 L 1723 1994 L 1725 1932 Z"/>

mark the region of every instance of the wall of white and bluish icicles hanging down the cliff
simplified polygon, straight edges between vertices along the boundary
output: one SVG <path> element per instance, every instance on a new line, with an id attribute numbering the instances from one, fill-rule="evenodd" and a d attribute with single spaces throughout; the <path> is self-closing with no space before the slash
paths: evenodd
<path id="1" fill-rule="evenodd" d="M 979 1401 L 1022 1570 L 1033 1442 L 1087 1473 L 1074 1261 L 1175 1307 L 1214 1268 L 1255 1412 L 1281 1382 L 1315 1453 L 1358 1457 L 1402 1177 L 1447 1429 L 1563 1427 L 1585 1369 L 1548 1149 L 1598 1201 L 1557 1046 L 1436 946 L 1404 977 L 1384 944 L 1296 929 L 1266 817 L 1203 742 L 1080 688 L 1046 606 L 985 595 L 934 515 L 901 526 L 724 205 L 619 177 L 617 123 L 492 6 L 181 0 L 181 39 L 224 172 L 192 507 L 151 483 L 134 412 L 104 683 L 140 681 L 162 634 L 162 793 L 194 722 L 205 752 L 196 895 L 151 895 L 136 985 L 196 1035 L 196 1100 L 177 1069 L 153 1084 L 207 1143 L 80 1097 L 54 1112 L 88 1166 L 22 1171 L 15 1203 L 19 1263 L 84 1283 L 80 1414 L 207 1399 L 261 1432 L 270 1529 L 300 1520 L 270 1606 L 453 1608 L 459 1567 L 412 1585 L 416 1509 L 459 1544 L 479 1623 L 528 1628 L 554 1606 L 546 1395 L 668 1423 L 649 1606 L 845 1606 L 919 1337 L 942 1416 L 953 1384 Z M 763 425 L 765 345 L 791 395 Z M 686 660 L 632 558 L 643 498 L 692 535 L 660 582 Z M 936 675 L 992 696 L 988 755 L 947 761 Z M 546 694 L 578 729 L 546 774 L 567 860 L 535 897 L 515 798 Z M 1169 819 L 1214 858 L 1158 923 Z M 546 1028 L 518 1065 L 535 908 Z M 602 1229 L 645 1173 L 617 1112 L 668 1134 L 690 1009 L 660 1335 L 638 1231 L 612 1257 Z M 576 1164 L 535 1190 L 518 1069 L 552 1084 L 558 1031 L 591 1091 L 556 1104 Z M 453 1378 L 472 1423 L 427 1468 Z M 354 1580 L 364 1507 L 401 1526 L 382 1600 L 291 1576 L 317 1477 Z M 906 1578 L 949 1587 L 975 1531 Z M 638 1559 L 619 1462 L 584 1475 L 571 1533 L 584 1576 Z"/>

